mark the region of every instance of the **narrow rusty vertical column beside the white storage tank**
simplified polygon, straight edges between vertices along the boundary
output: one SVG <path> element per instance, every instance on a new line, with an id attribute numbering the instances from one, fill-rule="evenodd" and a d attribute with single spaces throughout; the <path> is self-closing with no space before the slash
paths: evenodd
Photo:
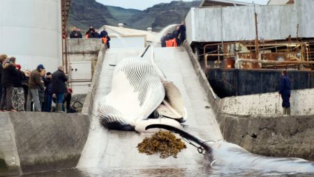
<path id="1" fill-rule="evenodd" d="M 62 26 L 62 66 L 65 73 L 68 73 L 68 44 L 66 38 L 68 38 L 68 15 L 70 12 L 71 0 L 61 0 L 61 26 Z"/>

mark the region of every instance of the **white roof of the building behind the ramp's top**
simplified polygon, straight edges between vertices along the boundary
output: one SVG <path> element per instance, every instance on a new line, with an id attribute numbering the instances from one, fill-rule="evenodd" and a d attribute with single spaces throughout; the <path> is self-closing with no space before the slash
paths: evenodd
<path id="1" fill-rule="evenodd" d="M 159 42 L 157 38 L 157 33 L 153 31 L 144 31 L 139 29 L 131 29 L 126 27 L 114 27 L 109 25 L 104 25 L 103 27 L 106 28 L 106 31 L 110 36 L 121 36 L 121 37 L 128 37 L 128 36 L 146 36 L 146 41 L 151 42 Z M 99 29 L 99 31 L 103 30 L 103 27 Z"/>

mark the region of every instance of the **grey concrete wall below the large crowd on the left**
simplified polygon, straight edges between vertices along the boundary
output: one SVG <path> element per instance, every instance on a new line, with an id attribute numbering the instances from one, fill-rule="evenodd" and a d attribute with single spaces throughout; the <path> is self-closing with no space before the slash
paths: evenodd
<path id="1" fill-rule="evenodd" d="M 77 113 L 0 113 L 0 160 L 22 173 L 76 166 L 89 134 Z M 2 121 L 3 120 L 3 121 Z"/>

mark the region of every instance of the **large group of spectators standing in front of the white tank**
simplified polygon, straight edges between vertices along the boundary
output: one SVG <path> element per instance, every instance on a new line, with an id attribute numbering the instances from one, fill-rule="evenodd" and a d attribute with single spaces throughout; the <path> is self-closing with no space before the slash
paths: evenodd
<path id="1" fill-rule="evenodd" d="M 43 64 L 38 64 L 33 71 L 22 71 L 16 64 L 15 57 L 0 55 L 0 111 L 45 111 L 51 112 L 52 101 L 55 111 L 67 112 L 73 90 L 66 87 L 68 77 L 59 66 L 54 73 L 45 71 Z"/>

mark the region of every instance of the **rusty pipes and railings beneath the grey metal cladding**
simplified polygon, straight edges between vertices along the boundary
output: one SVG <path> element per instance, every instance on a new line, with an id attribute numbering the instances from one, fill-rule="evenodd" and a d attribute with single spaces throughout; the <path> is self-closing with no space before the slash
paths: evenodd
<path id="1" fill-rule="evenodd" d="M 206 69 L 314 69 L 314 41 L 211 43 L 203 54 Z"/>

